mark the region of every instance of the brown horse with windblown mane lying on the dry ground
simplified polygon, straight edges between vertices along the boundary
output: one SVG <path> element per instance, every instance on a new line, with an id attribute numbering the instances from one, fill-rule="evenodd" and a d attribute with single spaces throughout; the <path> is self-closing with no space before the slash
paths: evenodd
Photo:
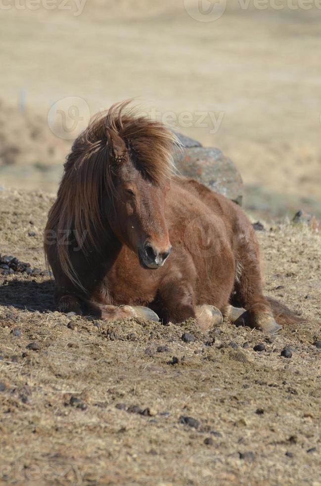
<path id="1" fill-rule="evenodd" d="M 173 175 L 175 135 L 125 108 L 95 118 L 64 166 L 45 231 L 58 310 L 196 318 L 202 329 L 222 312 L 268 332 L 296 320 L 263 295 L 258 243 L 243 211 Z"/>

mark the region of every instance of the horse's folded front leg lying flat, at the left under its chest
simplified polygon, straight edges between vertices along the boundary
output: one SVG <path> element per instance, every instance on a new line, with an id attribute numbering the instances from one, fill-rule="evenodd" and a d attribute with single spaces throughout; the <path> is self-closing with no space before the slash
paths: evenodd
<path id="1" fill-rule="evenodd" d="M 75 312 L 78 315 L 92 316 L 97 319 L 110 321 L 129 318 L 159 321 L 158 315 L 148 307 L 139 305 L 105 305 L 80 299 L 74 295 L 60 297 L 57 303 L 57 310 L 64 313 Z"/>

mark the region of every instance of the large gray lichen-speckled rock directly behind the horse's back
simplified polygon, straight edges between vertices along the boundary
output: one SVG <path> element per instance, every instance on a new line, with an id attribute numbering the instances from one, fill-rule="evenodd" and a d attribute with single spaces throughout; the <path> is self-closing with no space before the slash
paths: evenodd
<path id="1" fill-rule="evenodd" d="M 242 204 L 242 178 L 233 162 L 221 150 L 186 146 L 182 151 L 175 150 L 174 162 L 178 174 L 196 179 L 213 191 Z"/>

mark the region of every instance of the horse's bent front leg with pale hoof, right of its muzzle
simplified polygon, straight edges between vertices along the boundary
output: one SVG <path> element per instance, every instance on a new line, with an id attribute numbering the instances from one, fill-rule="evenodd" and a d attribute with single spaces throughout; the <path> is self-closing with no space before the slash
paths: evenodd
<path id="1" fill-rule="evenodd" d="M 169 276 L 160 285 L 152 307 L 165 323 L 194 318 L 203 331 L 223 323 L 219 309 L 213 305 L 195 305 L 194 299 L 194 291 L 188 283 Z"/>

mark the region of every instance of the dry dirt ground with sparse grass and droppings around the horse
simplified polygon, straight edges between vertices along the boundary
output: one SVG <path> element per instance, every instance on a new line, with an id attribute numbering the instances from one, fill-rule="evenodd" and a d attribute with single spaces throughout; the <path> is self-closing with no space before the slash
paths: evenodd
<path id="1" fill-rule="evenodd" d="M 45 269 L 52 200 L 0 191 L 2 255 Z M 228 321 L 202 333 L 68 317 L 48 276 L 0 275 L 0 483 L 321 485 L 320 235 L 257 236 L 267 295 L 307 318 L 272 337 Z"/>

